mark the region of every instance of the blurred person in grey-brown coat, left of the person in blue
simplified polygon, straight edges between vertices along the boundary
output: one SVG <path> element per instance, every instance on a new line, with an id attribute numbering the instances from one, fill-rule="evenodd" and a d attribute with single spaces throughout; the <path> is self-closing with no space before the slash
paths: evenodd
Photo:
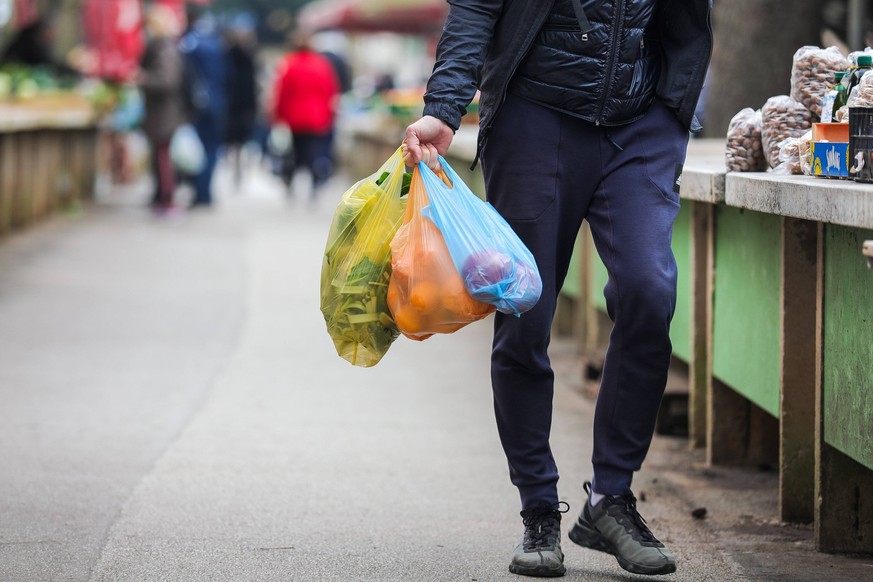
<path id="1" fill-rule="evenodd" d="M 149 39 L 137 82 L 145 100 L 142 129 L 149 143 L 155 182 L 152 207 L 159 215 L 171 215 L 178 209 L 173 201 L 176 172 L 170 158 L 170 140 L 173 132 L 185 122 L 184 65 L 178 48 L 182 26 L 176 13 L 161 4 L 148 9 L 145 24 Z"/>

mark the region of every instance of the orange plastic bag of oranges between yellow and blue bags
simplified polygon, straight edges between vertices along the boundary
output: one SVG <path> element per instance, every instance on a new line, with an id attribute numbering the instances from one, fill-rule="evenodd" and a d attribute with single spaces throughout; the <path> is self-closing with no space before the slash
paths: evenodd
<path id="1" fill-rule="evenodd" d="M 403 224 L 391 241 L 388 309 L 406 337 L 452 333 L 495 311 L 464 288 L 440 230 L 422 215 L 428 205 L 418 168 L 412 173 Z"/>

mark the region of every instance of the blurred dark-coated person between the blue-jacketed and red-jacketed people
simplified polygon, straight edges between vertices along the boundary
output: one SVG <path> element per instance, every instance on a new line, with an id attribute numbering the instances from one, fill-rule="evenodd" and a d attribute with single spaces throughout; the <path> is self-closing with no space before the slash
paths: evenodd
<path id="1" fill-rule="evenodd" d="M 258 111 L 254 26 L 242 17 L 231 22 L 227 39 L 227 134 L 225 145 L 233 164 L 234 184 L 242 183 L 242 150 L 254 137 Z"/>

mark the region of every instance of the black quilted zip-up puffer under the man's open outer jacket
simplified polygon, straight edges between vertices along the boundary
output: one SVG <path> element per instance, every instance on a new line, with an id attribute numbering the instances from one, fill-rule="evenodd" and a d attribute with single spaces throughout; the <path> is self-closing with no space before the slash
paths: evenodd
<path id="1" fill-rule="evenodd" d="M 581 22 L 580 6 L 555 0 L 509 91 L 592 123 L 630 123 L 648 110 L 658 84 L 658 35 L 647 30 L 656 2 L 590 0 Z"/>

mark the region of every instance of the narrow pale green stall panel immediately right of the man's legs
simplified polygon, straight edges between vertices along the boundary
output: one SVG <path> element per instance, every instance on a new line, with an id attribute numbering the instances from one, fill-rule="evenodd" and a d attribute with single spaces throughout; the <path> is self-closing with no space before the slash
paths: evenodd
<path id="1" fill-rule="evenodd" d="M 691 202 L 682 201 L 673 223 L 673 255 L 676 257 L 676 313 L 670 325 L 673 355 L 691 361 Z"/>

